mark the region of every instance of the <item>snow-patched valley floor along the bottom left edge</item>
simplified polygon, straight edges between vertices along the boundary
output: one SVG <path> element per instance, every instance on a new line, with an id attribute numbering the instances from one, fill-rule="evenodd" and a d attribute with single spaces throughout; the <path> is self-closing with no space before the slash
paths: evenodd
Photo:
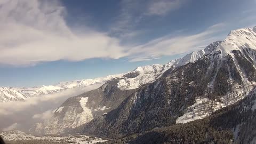
<path id="1" fill-rule="evenodd" d="M 0 132 L 0 135 L 3 137 L 5 141 L 7 140 L 49 140 L 56 142 L 69 142 L 69 143 L 97 143 L 104 142 L 107 140 L 102 140 L 101 138 L 92 138 L 86 135 L 67 135 L 62 137 L 54 137 L 54 136 L 42 136 L 36 137 L 35 135 L 31 135 L 21 131 L 6 131 Z"/>

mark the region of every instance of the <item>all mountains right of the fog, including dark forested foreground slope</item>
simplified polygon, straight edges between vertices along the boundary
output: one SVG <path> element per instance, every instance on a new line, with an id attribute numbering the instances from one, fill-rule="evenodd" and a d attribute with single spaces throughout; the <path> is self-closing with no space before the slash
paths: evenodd
<path id="1" fill-rule="evenodd" d="M 103 143 L 253 143 L 255 84 L 256 27 L 232 30 L 204 50 L 106 79 L 29 131 L 111 139 Z"/>

